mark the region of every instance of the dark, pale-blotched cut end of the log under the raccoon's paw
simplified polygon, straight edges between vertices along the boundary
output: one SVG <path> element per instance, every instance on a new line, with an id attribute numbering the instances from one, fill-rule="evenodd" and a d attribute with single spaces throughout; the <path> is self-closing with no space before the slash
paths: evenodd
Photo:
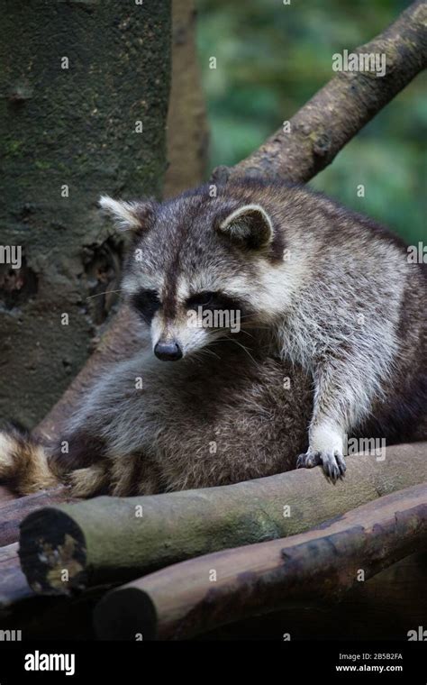
<path id="1" fill-rule="evenodd" d="M 27 516 L 20 528 L 21 566 L 34 591 L 68 595 L 86 586 L 85 535 L 67 513 L 45 507 Z"/>

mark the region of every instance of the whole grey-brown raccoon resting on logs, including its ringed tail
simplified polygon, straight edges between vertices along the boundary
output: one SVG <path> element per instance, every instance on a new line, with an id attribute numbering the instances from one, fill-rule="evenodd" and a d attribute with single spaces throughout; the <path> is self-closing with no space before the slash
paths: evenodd
<path id="1" fill-rule="evenodd" d="M 214 190 L 101 198 L 133 232 L 123 290 L 141 353 L 105 369 L 44 450 L 3 434 L 0 478 L 21 493 L 58 479 L 83 497 L 151 494 L 317 464 L 335 481 L 346 436 L 427 439 L 425 265 L 306 187 Z"/>

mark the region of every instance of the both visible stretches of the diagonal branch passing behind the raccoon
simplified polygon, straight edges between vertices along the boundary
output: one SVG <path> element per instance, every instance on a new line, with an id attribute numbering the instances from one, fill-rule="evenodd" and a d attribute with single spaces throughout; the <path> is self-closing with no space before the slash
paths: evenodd
<path id="1" fill-rule="evenodd" d="M 425 63 L 425 12 L 422 2 L 413 3 L 384 33 L 355 51 L 384 50 L 389 72 L 384 78 L 368 74 L 340 74 L 314 96 L 291 120 L 290 134 L 277 132 L 269 141 L 232 169 L 219 167 L 213 180 L 225 182 L 231 175 L 257 173 L 269 178 L 307 181 L 329 164 L 351 137 L 421 70 Z M 342 108 L 342 112 L 341 112 Z M 69 411 L 77 406 L 81 388 L 91 384 L 104 363 L 126 358 L 132 347 L 132 318 L 127 310 L 107 333 L 108 343 L 90 360 L 66 395 L 53 407 L 37 434 L 60 434 Z M 114 350 L 112 355 L 111 350 Z"/>

